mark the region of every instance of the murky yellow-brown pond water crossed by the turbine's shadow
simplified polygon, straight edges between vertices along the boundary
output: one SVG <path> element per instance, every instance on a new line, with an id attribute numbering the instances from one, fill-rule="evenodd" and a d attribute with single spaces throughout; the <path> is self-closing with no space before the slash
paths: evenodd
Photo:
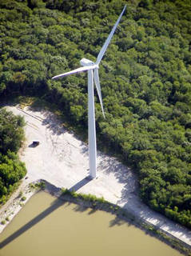
<path id="1" fill-rule="evenodd" d="M 114 215 L 35 194 L 0 235 L 1 256 L 177 256 Z"/>

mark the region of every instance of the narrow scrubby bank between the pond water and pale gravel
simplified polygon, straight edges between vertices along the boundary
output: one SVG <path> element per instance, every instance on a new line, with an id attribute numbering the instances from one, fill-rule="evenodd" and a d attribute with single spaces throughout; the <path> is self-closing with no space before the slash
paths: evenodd
<path id="1" fill-rule="evenodd" d="M 26 202 L 40 190 L 43 190 L 64 202 L 75 203 L 82 207 L 83 210 L 86 208 L 91 208 L 94 211 L 103 210 L 113 214 L 115 215 L 114 221 L 117 222 L 118 220 L 122 220 L 128 222 L 130 225 L 136 226 L 137 228 L 145 231 L 146 234 L 158 238 L 161 240 L 161 242 L 165 242 L 173 249 L 178 250 L 181 254 L 185 254 L 187 256 L 191 255 L 191 246 L 180 239 L 173 237 L 173 235 L 165 232 L 164 230 L 145 222 L 145 220 L 137 218 L 137 216 L 134 216 L 125 208 L 117 206 L 117 204 L 107 202 L 104 198 L 97 198 L 91 194 L 78 194 L 72 190 L 60 189 L 57 186 L 50 184 L 50 182 L 46 182 L 45 180 L 38 180 L 37 182 L 30 184 L 27 183 L 26 180 L 23 180 L 18 190 L 12 195 L 6 205 L 2 206 L 0 209 L 0 222 L 3 220 L 5 221 L 3 225 L 2 223 L 0 225 L 0 234 L 2 230 L 4 230 L 6 226 L 14 219 L 14 216 L 16 216 L 16 214 L 18 214 L 18 212 L 22 209 L 22 206 L 24 206 Z M 25 200 L 23 200 L 23 198 Z"/>

